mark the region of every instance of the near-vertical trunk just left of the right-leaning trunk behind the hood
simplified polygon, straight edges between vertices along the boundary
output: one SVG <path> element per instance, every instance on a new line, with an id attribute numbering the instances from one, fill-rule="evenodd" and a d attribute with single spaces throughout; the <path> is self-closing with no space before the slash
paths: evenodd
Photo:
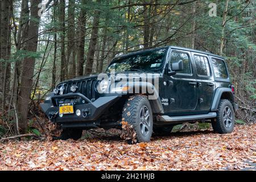
<path id="1" fill-rule="evenodd" d="M 77 50 L 77 76 L 84 75 L 84 44 L 85 44 L 85 24 L 86 24 L 86 6 L 87 1 L 82 0 L 79 16 L 79 42 Z"/>

